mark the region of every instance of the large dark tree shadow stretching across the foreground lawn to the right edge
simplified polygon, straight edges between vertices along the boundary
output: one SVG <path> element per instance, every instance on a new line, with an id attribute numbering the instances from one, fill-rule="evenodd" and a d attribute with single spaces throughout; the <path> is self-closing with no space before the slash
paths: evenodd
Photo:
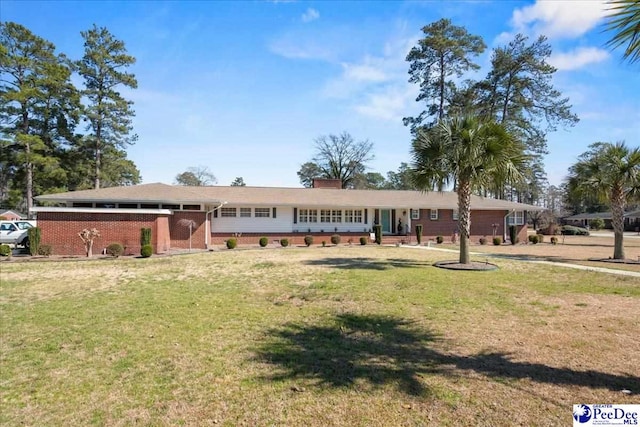
<path id="1" fill-rule="evenodd" d="M 439 340 L 438 334 L 402 318 L 341 314 L 330 325 L 289 323 L 268 331 L 257 358 L 277 368 L 266 380 L 306 379 L 335 388 L 365 381 L 373 386 L 395 385 L 414 396 L 429 391 L 421 379 L 425 375 L 454 377 L 465 371 L 491 378 L 640 392 L 640 377 L 631 374 L 517 362 L 506 353 L 448 354 L 431 348 Z"/>

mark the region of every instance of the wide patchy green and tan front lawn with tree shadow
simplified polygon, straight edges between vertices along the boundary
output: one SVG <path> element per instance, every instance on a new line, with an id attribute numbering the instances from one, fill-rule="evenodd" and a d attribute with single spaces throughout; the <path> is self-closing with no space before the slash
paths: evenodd
<path id="1" fill-rule="evenodd" d="M 640 280 L 431 266 L 450 258 L 2 263 L 0 425 L 555 425 L 637 402 Z"/>

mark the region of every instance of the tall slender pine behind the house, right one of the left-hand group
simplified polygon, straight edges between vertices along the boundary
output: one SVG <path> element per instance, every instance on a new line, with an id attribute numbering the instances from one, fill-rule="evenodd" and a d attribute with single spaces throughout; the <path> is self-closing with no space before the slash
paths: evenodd
<path id="1" fill-rule="evenodd" d="M 106 28 L 94 25 L 81 34 L 84 56 L 77 67 L 84 78 L 83 95 L 88 99 L 85 119 L 91 131 L 87 141 L 94 156 L 94 186 L 100 188 L 105 149 L 124 149 L 137 139 L 132 134 L 133 102 L 118 91 L 122 86 L 137 88 L 135 76 L 124 71 L 135 63 L 135 58 L 127 54 L 124 42 L 115 39 Z"/>

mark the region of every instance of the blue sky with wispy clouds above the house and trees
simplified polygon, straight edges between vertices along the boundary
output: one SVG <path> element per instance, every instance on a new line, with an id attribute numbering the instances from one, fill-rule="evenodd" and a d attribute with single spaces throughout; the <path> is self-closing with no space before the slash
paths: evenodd
<path id="1" fill-rule="evenodd" d="M 545 34 L 554 84 L 580 123 L 549 134 L 545 168 L 558 185 L 596 141 L 640 144 L 640 64 L 605 47 L 602 1 L 7 1 L 18 22 L 78 59 L 94 23 L 126 43 L 138 89 L 138 142 L 128 149 L 143 182 L 172 183 L 206 166 L 229 185 L 299 187 L 296 172 L 321 135 L 374 144 L 370 171 L 410 161 L 402 117 L 417 115 L 405 57 L 421 28 L 450 18 L 484 38 L 477 59 L 517 32 Z M 79 83 L 79 80 L 78 80 Z"/>

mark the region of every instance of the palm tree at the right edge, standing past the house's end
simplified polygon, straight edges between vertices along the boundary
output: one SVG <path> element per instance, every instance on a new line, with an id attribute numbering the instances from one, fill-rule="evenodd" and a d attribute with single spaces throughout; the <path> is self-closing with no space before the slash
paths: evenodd
<path id="1" fill-rule="evenodd" d="M 611 206 L 614 259 L 624 259 L 624 210 L 640 200 L 640 148 L 624 142 L 596 142 L 569 168 L 570 194 L 606 202 Z"/>

